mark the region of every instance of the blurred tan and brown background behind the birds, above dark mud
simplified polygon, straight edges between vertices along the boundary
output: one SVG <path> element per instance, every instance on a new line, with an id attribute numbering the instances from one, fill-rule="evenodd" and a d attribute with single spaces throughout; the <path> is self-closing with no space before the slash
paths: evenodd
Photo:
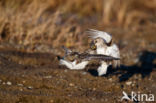
<path id="1" fill-rule="evenodd" d="M 156 40 L 156 0 L 0 0 L 1 44 L 41 52 L 61 45 L 83 49 L 88 28 L 111 33 L 121 46 L 131 39 L 149 45 Z"/>

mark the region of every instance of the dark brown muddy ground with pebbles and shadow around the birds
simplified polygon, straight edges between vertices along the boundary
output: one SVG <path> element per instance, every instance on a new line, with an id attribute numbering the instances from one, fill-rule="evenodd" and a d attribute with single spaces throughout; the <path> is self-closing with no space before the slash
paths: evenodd
<path id="1" fill-rule="evenodd" d="M 121 67 L 109 67 L 102 77 L 97 76 L 96 64 L 69 70 L 59 66 L 57 53 L 26 52 L 1 44 L 0 102 L 120 103 L 122 91 L 156 96 L 155 30 L 140 34 L 112 30 L 118 34 L 113 36 L 120 47 Z"/>

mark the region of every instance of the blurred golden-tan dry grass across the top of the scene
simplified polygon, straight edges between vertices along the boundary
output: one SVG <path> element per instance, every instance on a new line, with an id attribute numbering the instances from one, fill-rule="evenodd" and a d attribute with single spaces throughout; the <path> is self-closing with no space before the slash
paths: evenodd
<path id="1" fill-rule="evenodd" d="M 1 0 L 0 11 L 1 41 L 72 47 L 84 40 L 79 36 L 84 17 L 95 16 L 107 25 L 138 25 L 155 18 L 156 0 Z"/>

